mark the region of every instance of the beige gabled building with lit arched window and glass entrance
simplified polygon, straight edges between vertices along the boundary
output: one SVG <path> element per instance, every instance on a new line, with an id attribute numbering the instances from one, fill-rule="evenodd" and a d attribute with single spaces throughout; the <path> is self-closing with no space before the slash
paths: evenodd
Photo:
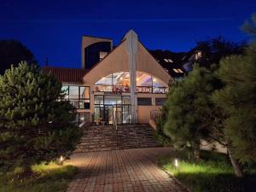
<path id="1" fill-rule="evenodd" d="M 171 58 L 165 59 L 172 64 Z M 183 75 L 182 69 L 173 67 L 177 68 L 177 77 Z M 148 123 L 164 103 L 168 84 L 175 79 L 132 30 L 114 49 L 112 39 L 84 36 L 82 68 L 43 70 L 62 82 L 66 99 L 77 108 L 79 121 L 109 125 Z"/>

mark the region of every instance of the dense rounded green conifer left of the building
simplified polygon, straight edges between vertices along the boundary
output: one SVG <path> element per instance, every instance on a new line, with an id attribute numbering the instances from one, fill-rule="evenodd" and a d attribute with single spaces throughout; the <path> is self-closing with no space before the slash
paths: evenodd
<path id="1" fill-rule="evenodd" d="M 0 76 L 0 166 L 29 167 L 71 152 L 79 128 L 61 83 L 21 62 Z"/>

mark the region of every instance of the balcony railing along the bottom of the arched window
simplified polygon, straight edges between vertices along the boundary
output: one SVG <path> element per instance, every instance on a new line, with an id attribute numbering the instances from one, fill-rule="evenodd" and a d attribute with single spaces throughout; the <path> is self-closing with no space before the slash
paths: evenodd
<path id="1" fill-rule="evenodd" d="M 123 85 L 95 85 L 94 91 L 129 93 L 131 89 Z M 167 91 L 167 87 L 137 86 L 137 93 L 166 93 Z"/>

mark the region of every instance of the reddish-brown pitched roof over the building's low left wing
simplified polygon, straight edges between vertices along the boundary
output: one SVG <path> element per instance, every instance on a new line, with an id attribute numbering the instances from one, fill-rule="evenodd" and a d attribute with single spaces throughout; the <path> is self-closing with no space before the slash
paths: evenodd
<path id="1" fill-rule="evenodd" d="M 81 84 L 87 70 L 83 68 L 42 67 L 43 73 L 52 74 L 58 81 Z"/>

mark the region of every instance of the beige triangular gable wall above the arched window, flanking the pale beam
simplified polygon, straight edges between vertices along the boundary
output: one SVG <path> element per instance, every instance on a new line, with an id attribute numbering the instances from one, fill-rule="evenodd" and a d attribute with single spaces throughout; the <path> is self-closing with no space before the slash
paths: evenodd
<path id="1" fill-rule="evenodd" d="M 137 71 L 151 74 L 168 85 L 170 80 L 173 80 L 169 73 L 160 66 L 160 63 L 154 59 L 143 44 L 138 42 L 137 45 Z M 84 75 L 83 81 L 85 84 L 93 85 L 98 80 L 111 73 L 122 71 L 130 71 L 129 55 L 125 38 L 118 47 L 113 49 L 102 61 L 98 62 L 95 67 L 91 68 L 90 71 Z"/>

